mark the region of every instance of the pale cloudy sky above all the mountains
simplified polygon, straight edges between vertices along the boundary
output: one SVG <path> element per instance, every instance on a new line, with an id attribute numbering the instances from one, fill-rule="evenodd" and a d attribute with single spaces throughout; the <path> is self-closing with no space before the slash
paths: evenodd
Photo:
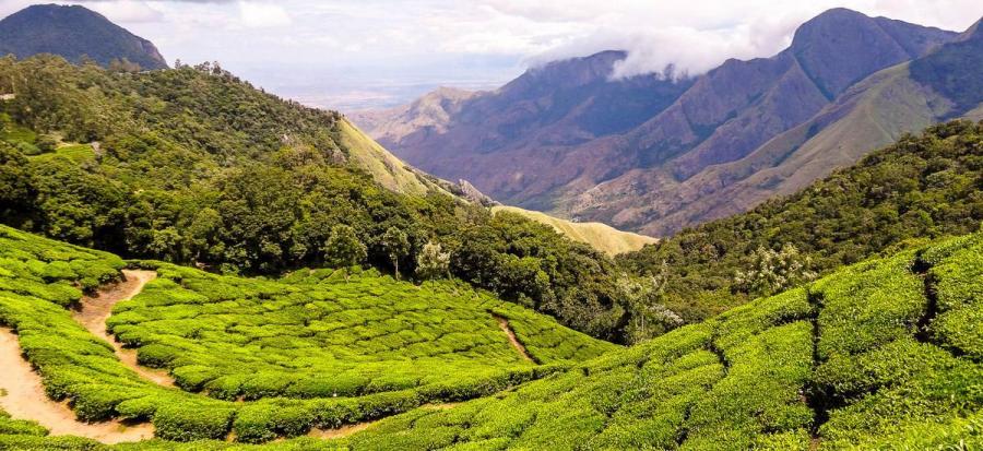
<path id="1" fill-rule="evenodd" d="M 31 4 L 0 0 L 0 15 Z M 530 64 L 627 49 L 615 75 L 767 57 L 833 8 L 962 31 L 979 0 L 87 0 L 174 62 L 218 60 L 267 90 L 353 110 L 439 85 L 494 88 Z"/>

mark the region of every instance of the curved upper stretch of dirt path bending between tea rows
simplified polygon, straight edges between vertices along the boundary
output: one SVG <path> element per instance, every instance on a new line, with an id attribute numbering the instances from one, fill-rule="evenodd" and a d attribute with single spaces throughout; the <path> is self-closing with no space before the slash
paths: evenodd
<path id="1" fill-rule="evenodd" d="M 140 294 L 147 282 L 157 278 L 155 271 L 123 270 L 126 281 L 100 289 L 95 296 L 82 298 L 82 308 L 72 313 L 72 318 L 88 330 L 93 335 L 103 339 L 112 345 L 116 356 L 128 368 L 140 377 L 158 385 L 174 387 L 174 378 L 166 371 L 142 367 L 137 364 L 137 351 L 123 348 L 115 337 L 106 332 L 106 320 L 112 314 L 112 307 L 118 302 L 131 299 Z"/>

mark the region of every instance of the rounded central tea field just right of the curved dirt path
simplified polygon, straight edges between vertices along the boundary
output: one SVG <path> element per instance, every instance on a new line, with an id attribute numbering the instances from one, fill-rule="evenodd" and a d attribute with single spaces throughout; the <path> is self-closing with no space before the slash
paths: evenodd
<path id="1" fill-rule="evenodd" d="M 144 263 L 147 265 L 147 263 Z M 613 345 L 464 284 L 415 286 L 375 271 L 298 271 L 281 281 L 153 264 L 159 278 L 108 323 L 139 360 L 223 400 L 414 390 L 462 400 L 595 357 Z M 502 333 L 508 318 L 531 357 Z"/>

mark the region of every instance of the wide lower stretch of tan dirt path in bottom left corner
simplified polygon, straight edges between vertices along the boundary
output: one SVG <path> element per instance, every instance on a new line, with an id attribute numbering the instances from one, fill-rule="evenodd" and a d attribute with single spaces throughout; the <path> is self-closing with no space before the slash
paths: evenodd
<path id="1" fill-rule="evenodd" d="M 33 419 L 52 436 L 79 436 L 104 443 L 146 440 L 154 437 L 150 424 L 128 426 L 120 422 L 82 423 L 68 402 L 56 403 L 45 394 L 40 376 L 21 357 L 17 335 L 0 329 L 0 406 L 17 419 Z"/>

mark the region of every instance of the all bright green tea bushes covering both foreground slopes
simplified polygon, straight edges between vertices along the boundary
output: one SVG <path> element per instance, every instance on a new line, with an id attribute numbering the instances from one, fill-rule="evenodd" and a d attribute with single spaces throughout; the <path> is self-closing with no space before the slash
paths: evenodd
<path id="1" fill-rule="evenodd" d="M 620 349 L 451 283 L 416 287 L 358 272 L 346 283 L 331 271 L 263 281 L 131 262 L 159 276 L 117 305 L 109 327 L 182 390 L 137 377 L 66 310 L 80 296 L 67 281 L 95 286 L 125 262 L 3 235 L 3 249 L 16 250 L 3 251 L 0 319 L 48 393 L 72 400 L 82 419 L 151 420 L 165 439 L 232 431 L 265 442 L 384 417 L 347 437 L 254 447 L 983 446 L 983 233 L 858 263 Z M 540 365 L 510 345 L 496 317 Z M 0 444 L 25 448 L 252 447 L 104 446 L 8 418 L 0 432 Z"/>

